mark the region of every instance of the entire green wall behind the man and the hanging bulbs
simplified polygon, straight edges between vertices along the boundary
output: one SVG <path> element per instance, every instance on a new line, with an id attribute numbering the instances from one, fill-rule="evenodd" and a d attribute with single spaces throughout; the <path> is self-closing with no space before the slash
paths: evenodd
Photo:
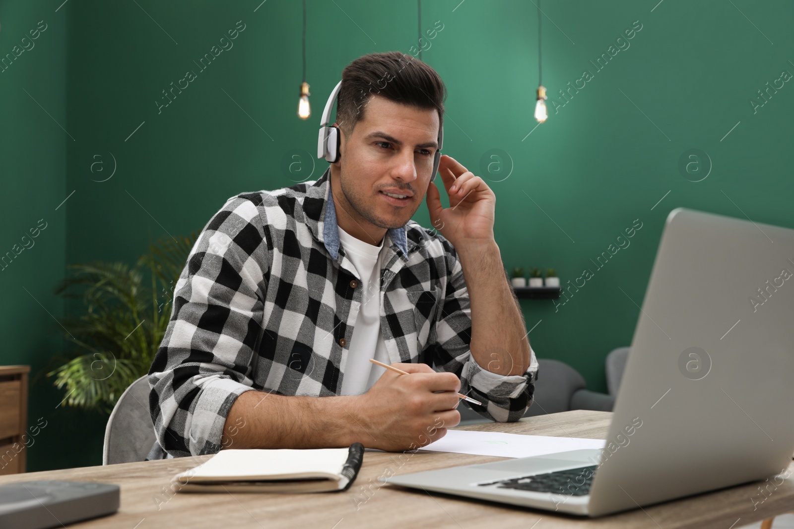
<path id="1" fill-rule="evenodd" d="M 370 52 L 408 53 L 417 38 L 414 0 L 307 0 L 313 113 L 301 121 L 300 2 L 83 0 L 56 12 L 61 1 L 0 2 L 2 53 L 38 21 L 48 23 L 36 47 L 0 74 L 0 248 L 10 250 L 38 219 L 48 221 L 36 246 L 0 273 L 9 301 L 0 319 L 2 363 L 34 371 L 62 344 L 41 305 L 63 315 L 52 286 L 67 263 L 132 263 L 148 241 L 202 228 L 234 194 L 303 178 L 284 169 L 296 151 L 305 151 L 306 171 L 316 164 L 316 178 L 327 167 L 312 156 L 319 113 L 342 68 Z M 527 327 L 537 324 L 530 342 L 538 356 L 569 362 L 591 389 L 605 390 L 603 359 L 630 343 L 639 314 L 632 300 L 642 304 L 671 209 L 794 227 L 794 87 L 784 82 L 765 105 L 750 103 L 762 101 L 757 90 L 766 82 L 780 86 L 781 71 L 794 74 L 794 6 L 623 0 L 542 8 L 549 120 L 538 128 L 531 2 L 424 2 L 423 29 L 443 29 L 422 59 L 449 90 L 445 153 L 497 194 L 505 266 L 553 266 L 564 284 L 585 268 L 595 272 L 565 305 L 530 300 L 522 309 Z M 194 61 L 213 46 L 228 48 L 221 38 L 238 21 L 245 29 L 233 47 L 201 70 Z M 630 40 L 616 41 L 640 25 Z M 599 71 L 592 63 L 601 54 L 609 60 Z M 162 91 L 188 70 L 195 79 L 160 107 Z M 577 81 L 585 70 L 592 79 Z M 577 83 L 578 92 L 561 97 Z M 501 158 L 488 157 L 494 149 Z M 690 149 L 711 159 L 700 182 L 678 167 Z M 113 177 L 97 182 L 109 176 L 113 158 Z M 424 205 L 415 218 L 429 225 Z M 630 246 L 596 269 L 591 259 L 635 219 L 642 228 Z M 48 414 L 52 426 L 31 448 L 29 470 L 99 464 L 104 418 L 56 409 L 63 395 L 48 380 L 32 389 L 31 421 Z"/>

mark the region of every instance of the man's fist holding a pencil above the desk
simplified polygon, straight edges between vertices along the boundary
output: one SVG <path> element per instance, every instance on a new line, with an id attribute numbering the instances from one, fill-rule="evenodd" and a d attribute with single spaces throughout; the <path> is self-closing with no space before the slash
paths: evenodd
<path id="1" fill-rule="evenodd" d="M 391 365 L 409 374 L 385 370 L 367 393 L 353 399 L 352 426 L 364 429 L 364 447 L 413 450 L 441 439 L 447 427 L 461 422 L 461 381 L 455 374 L 437 373 L 422 363 Z"/>

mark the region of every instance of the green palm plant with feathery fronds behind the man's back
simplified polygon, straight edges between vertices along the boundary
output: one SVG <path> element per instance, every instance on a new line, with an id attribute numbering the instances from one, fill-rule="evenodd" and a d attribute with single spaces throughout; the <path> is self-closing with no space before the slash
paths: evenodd
<path id="1" fill-rule="evenodd" d="M 168 327 L 174 284 L 197 237 L 193 232 L 150 243 L 132 267 L 68 266 L 74 273 L 55 293 L 82 297 L 86 311 L 64 320 L 66 358 L 55 358 L 58 365 L 47 374 L 64 389 L 63 405 L 110 412 L 121 393 L 148 373 Z"/>

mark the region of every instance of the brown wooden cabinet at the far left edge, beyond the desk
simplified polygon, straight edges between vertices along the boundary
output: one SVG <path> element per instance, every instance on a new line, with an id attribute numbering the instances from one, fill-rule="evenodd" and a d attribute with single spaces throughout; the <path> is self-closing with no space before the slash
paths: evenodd
<path id="1" fill-rule="evenodd" d="M 0 366 L 0 475 L 25 472 L 29 372 L 30 366 Z"/>

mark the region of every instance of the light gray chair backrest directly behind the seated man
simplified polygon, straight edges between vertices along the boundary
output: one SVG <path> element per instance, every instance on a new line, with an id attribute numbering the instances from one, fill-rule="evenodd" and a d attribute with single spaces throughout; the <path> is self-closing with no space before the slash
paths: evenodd
<path id="1" fill-rule="evenodd" d="M 102 465 L 146 459 L 156 439 L 148 409 L 148 393 L 146 375 L 121 393 L 107 420 Z"/>

